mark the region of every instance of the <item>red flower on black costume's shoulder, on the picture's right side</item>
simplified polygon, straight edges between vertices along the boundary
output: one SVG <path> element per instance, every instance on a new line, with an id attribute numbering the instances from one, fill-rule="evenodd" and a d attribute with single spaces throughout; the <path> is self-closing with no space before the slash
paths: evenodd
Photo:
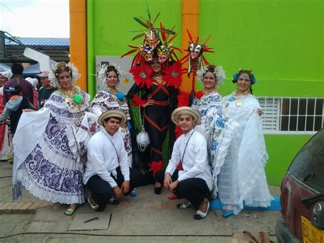
<path id="1" fill-rule="evenodd" d="M 183 81 L 183 73 L 186 73 L 186 71 L 181 67 L 181 62 L 177 61 L 165 68 L 162 79 L 167 82 L 167 86 L 179 88 Z"/>

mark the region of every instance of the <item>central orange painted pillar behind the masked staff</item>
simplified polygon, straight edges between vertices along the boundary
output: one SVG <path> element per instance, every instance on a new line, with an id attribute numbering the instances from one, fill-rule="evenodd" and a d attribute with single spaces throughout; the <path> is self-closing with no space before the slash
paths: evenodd
<path id="1" fill-rule="evenodd" d="M 183 0 L 182 10 L 182 49 L 187 50 L 189 46 L 187 29 L 195 38 L 198 36 L 199 0 Z M 183 56 L 185 55 L 187 55 L 187 51 L 183 51 Z M 191 91 L 191 79 L 187 75 L 183 75 L 183 83 L 180 88 L 185 92 Z"/>

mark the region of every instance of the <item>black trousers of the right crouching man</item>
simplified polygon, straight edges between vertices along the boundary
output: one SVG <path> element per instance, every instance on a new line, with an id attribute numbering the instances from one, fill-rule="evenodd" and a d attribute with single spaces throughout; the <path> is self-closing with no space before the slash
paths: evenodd
<path id="1" fill-rule="evenodd" d="M 172 175 L 172 181 L 178 179 L 178 170 L 175 170 Z M 165 170 L 159 170 L 155 174 L 157 182 L 164 182 Z M 179 181 L 174 193 L 179 199 L 188 199 L 195 209 L 198 209 L 199 205 L 204 201 L 204 198 L 209 199 L 211 192 L 206 184 L 206 181 L 200 178 L 189 178 L 183 181 Z"/>

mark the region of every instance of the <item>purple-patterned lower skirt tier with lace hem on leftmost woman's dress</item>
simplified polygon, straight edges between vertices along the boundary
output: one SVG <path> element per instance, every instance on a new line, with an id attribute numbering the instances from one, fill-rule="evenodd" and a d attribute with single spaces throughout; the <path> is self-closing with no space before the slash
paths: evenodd
<path id="1" fill-rule="evenodd" d="M 51 161 L 55 154 L 46 159 L 44 152 L 40 144 L 37 144 L 19 168 L 23 173 L 23 186 L 42 200 L 53 203 L 84 203 L 83 165 L 71 165 L 70 159 L 59 159 L 54 164 Z"/>

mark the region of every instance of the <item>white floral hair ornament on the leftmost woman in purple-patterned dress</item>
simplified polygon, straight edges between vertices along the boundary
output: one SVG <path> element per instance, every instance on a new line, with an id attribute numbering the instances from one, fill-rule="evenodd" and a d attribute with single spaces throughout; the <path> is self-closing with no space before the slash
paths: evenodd
<path id="1" fill-rule="evenodd" d="M 61 85 L 59 84 L 59 73 L 57 72 L 59 68 L 66 68 L 66 71 L 71 75 L 72 77 L 72 84 L 75 84 L 75 81 L 81 77 L 81 75 L 78 73 L 77 67 L 72 64 L 65 62 L 58 62 L 55 64 L 54 69 L 49 73 L 49 79 L 51 80 L 51 84 L 55 88 L 61 88 Z"/>

